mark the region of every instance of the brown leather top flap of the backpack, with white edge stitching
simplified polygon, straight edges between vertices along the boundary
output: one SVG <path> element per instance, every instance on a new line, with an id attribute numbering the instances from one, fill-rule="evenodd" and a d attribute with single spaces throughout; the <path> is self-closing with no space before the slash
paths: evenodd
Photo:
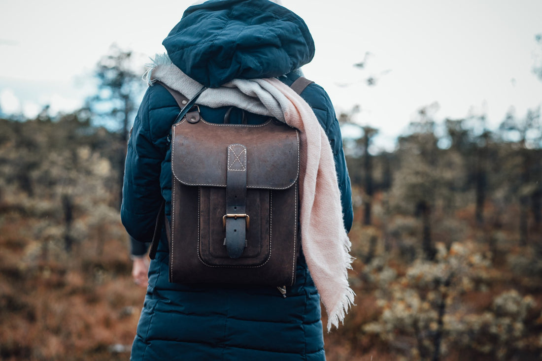
<path id="1" fill-rule="evenodd" d="M 171 169 L 184 185 L 225 187 L 228 147 L 246 147 L 247 188 L 282 190 L 299 177 L 299 134 L 287 125 L 212 124 L 182 121 L 173 126 Z M 176 157 L 175 154 L 182 154 Z M 292 162 L 296 159 L 296 162 Z"/>

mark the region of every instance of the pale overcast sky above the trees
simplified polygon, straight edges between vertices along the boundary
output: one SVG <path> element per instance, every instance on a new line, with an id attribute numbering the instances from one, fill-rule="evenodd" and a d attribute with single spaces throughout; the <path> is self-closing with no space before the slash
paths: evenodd
<path id="1" fill-rule="evenodd" d="M 32 116 L 80 106 L 112 43 L 147 57 L 193 1 L 0 0 L 0 106 Z M 306 21 L 316 55 L 304 67 L 337 111 L 359 105 L 379 143 L 405 130 L 418 108 L 437 120 L 486 113 L 495 127 L 514 106 L 542 104 L 542 0 L 282 0 Z M 366 55 L 368 54 L 368 55 Z M 365 60 L 365 67 L 354 67 Z M 377 78 L 375 86 L 364 81 Z"/>

